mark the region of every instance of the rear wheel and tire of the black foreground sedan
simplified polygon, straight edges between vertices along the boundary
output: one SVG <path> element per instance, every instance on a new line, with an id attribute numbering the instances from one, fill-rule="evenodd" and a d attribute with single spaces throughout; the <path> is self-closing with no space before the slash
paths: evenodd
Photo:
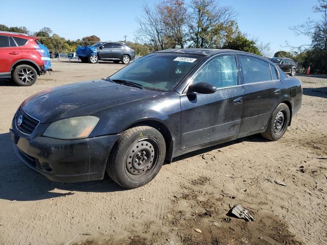
<path id="1" fill-rule="evenodd" d="M 283 137 L 290 122 L 290 109 L 284 103 L 279 104 L 271 114 L 267 129 L 261 135 L 269 140 Z"/>

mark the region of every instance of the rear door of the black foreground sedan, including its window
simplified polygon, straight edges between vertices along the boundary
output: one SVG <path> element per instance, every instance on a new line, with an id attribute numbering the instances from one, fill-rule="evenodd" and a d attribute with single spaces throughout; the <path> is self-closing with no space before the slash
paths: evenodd
<path id="1" fill-rule="evenodd" d="M 242 69 L 244 109 L 240 137 L 264 129 L 281 100 L 282 82 L 276 70 L 263 59 L 238 55 Z"/>

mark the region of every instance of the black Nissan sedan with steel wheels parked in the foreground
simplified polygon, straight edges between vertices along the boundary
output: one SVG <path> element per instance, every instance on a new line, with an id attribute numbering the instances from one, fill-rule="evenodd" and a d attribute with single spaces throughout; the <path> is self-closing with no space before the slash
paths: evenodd
<path id="1" fill-rule="evenodd" d="M 45 90 L 18 108 L 18 157 L 50 180 L 135 188 L 164 160 L 261 133 L 281 138 L 302 88 L 274 63 L 232 50 L 164 50 L 103 80 Z"/>

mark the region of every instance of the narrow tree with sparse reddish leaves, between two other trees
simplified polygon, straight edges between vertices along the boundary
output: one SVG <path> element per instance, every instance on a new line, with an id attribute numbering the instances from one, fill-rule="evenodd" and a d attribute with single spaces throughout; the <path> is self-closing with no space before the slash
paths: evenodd
<path id="1" fill-rule="evenodd" d="M 183 0 L 165 0 L 158 6 L 162 23 L 164 24 L 165 38 L 167 45 L 175 48 L 184 47 L 186 36 L 186 12 Z"/>

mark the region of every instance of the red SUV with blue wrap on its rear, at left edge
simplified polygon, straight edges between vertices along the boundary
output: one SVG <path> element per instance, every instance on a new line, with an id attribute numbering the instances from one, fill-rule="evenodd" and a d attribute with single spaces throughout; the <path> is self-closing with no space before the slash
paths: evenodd
<path id="1" fill-rule="evenodd" d="M 37 76 L 51 70 L 48 48 L 37 37 L 0 31 L 0 78 L 31 86 Z"/>

